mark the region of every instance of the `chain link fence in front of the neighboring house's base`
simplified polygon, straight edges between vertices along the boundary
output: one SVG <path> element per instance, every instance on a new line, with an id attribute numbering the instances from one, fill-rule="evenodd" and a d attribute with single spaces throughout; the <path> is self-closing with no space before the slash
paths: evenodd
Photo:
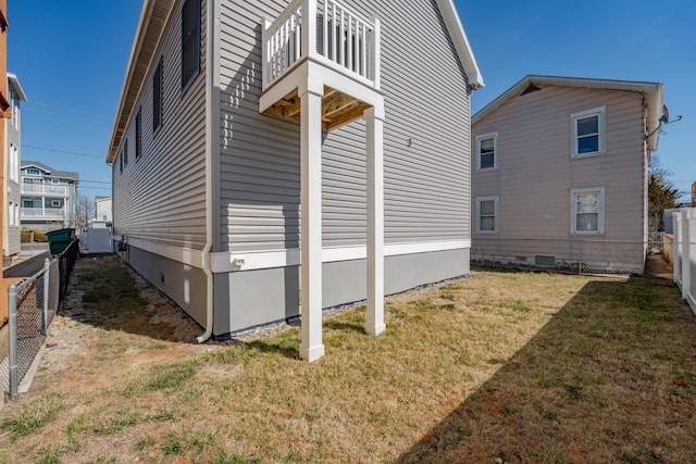
<path id="1" fill-rule="evenodd" d="M 579 274 L 644 275 L 647 254 L 662 250 L 661 236 L 648 241 L 475 238 L 471 260 Z"/>

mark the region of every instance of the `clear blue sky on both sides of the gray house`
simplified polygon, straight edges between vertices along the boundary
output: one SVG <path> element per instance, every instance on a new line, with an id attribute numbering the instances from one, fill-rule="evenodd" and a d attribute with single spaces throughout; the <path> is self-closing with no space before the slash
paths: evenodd
<path id="1" fill-rule="evenodd" d="M 346 0 L 350 2 L 350 0 Z M 527 74 L 664 83 L 672 117 L 658 156 L 696 180 L 696 1 L 456 0 L 486 87 L 475 112 Z M 110 195 L 104 156 L 141 0 L 9 0 L 8 71 L 28 97 L 22 158 L 79 173 Z"/>

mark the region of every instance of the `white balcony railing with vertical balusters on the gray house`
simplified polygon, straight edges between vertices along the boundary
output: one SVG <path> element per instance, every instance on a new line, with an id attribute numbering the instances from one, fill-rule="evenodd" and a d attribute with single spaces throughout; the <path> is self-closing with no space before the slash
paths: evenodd
<path id="1" fill-rule="evenodd" d="M 335 0 L 293 1 L 265 22 L 262 41 L 264 90 L 306 57 L 380 88 L 380 21 L 364 20 Z"/>

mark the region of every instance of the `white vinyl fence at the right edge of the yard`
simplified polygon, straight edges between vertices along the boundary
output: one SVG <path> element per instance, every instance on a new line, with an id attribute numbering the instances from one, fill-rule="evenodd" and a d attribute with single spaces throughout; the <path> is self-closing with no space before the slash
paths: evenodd
<path id="1" fill-rule="evenodd" d="M 674 231 L 674 281 L 682 298 L 696 313 L 696 209 L 685 208 L 672 214 Z"/>

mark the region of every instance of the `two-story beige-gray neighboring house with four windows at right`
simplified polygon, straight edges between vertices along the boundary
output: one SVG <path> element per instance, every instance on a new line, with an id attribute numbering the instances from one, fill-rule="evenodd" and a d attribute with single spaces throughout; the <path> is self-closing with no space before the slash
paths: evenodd
<path id="1" fill-rule="evenodd" d="M 472 259 L 642 274 L 662 92 L 526 76 L 477 112 Z"/>

